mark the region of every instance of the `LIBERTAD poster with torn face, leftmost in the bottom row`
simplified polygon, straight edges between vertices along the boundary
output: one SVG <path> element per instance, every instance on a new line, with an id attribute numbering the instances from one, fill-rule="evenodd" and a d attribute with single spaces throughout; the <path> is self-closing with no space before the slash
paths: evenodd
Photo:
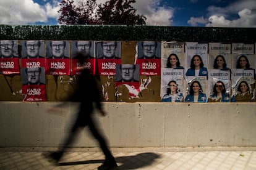
<path id="1" fill-rule="evenodd" d="M 184 69 L 161 68 L 161 101 L 182 102 L 183 94 Z"/>

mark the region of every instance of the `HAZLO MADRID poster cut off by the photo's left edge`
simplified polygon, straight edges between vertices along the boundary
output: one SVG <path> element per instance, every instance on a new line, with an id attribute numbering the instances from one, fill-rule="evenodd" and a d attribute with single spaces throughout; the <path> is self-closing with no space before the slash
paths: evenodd
<path id="1" fill-rule="evenodd" d="M 0 40 L 0 73 L 3 75 L 19 74 L 19 55 L 17 40 Z"/>

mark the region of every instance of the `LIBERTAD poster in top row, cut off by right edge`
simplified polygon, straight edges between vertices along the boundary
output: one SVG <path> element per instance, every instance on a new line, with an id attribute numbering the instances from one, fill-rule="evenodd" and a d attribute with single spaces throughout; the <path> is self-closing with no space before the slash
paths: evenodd
<path id="1" fill-rule="evenodd" d="M 254 44 L 233 43 L 232 44 L 232 68 L 233 69 L 255 69 L 255 47 Z"/>

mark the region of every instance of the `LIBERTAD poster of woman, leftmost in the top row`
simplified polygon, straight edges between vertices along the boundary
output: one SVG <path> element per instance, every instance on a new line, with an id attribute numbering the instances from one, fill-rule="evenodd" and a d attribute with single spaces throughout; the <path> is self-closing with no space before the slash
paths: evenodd
<path id="1" fill-rule="evenodd" d="M 168 58 L 171 54 L 177 55 L 177 61 L 179 62 L 176 65 L 176 68 L 184 67 L 185 63 L 185 49 L 184 42 L 167 42 L 161 41 L 161 68 L 169 68 Z M 171 64 L 171 63 L 169 63 Z"/>

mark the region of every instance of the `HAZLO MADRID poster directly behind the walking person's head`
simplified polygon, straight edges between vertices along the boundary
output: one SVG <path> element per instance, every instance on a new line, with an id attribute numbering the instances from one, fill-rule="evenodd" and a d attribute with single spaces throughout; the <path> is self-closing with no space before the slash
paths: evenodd
<path id="1" fill-rule="evenodd" d="M 81 70 L 84 68 L 95 75 L 95 41 L 72 41 L 71 53 L 72 75 L 80 75 Z M 82 55 L 83 62 L 77 59 L 78 54 Z"/>

